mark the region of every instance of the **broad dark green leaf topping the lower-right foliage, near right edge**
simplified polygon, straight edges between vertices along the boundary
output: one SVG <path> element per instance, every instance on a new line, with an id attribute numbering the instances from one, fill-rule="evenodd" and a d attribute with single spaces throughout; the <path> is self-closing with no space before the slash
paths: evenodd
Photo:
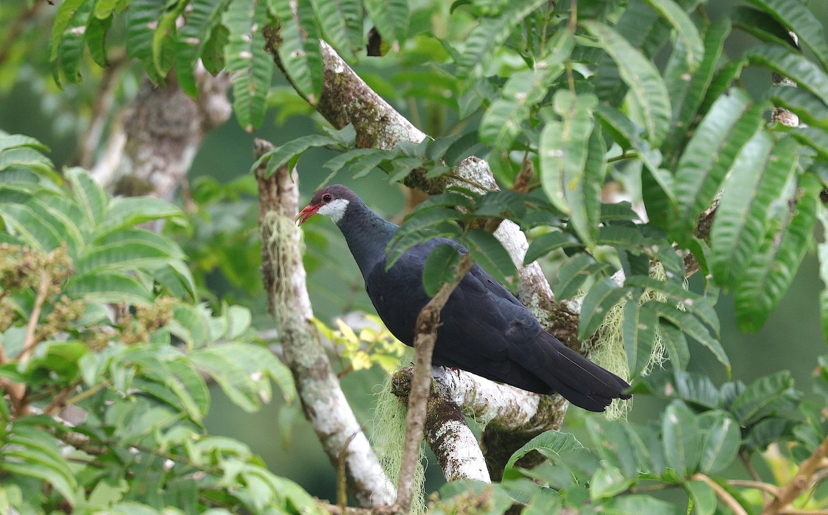
<path id="1" fill-rule="evenodd" d="M 802 398 L 802 392 L 793 387 L 793 378 L 787 370 L 758 378 L 745 388 L 728 407 L 739 426 L 747 427 L 765 417 L 793 412 Z"/>

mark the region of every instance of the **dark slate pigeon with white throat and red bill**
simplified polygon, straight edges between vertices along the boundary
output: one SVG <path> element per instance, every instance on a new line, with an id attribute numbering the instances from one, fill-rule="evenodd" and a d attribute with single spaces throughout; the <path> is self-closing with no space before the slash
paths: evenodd
<path id="1" fill-rule="evenodd" d="M 299 225 L 315 214 L 333 219 L 365 280 L 368 297 L 388 330 L 414 344 L 417 315 L 430 300 L 422 271 L 431 250 L 449 243 L 433 238 L 411 248 L 386 270 L 386 248 L 398 227 L 368 208 L 344 185 L 317 191 L 296 216 Z M 614 398 L 628 399 L 622 378 L 585 359 L 542 329 L 537 319 L 505 287 L 474 265 L 440 311 L 432 363 L 475 373 L 529 392 L 563 397 L 592 412 L 603 412 Z"/>

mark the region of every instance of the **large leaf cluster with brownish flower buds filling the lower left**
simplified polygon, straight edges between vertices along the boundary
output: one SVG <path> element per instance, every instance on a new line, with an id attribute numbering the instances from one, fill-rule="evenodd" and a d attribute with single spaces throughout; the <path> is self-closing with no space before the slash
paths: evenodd
<path id="1" fill-rule="evenodd" d="M 180 209 L 60 177 L 42 150 L 0 135 L 0 511 L 315 510 L 205 432 L 208 382 L 248 412 L 296 391 L 250 311 L 196 303 L 181 248 L 142 226 Z"/>

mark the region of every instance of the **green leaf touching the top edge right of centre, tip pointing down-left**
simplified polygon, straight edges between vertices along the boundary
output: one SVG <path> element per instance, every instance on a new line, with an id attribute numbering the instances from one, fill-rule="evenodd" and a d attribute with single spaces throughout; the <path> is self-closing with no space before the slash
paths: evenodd
<path id="1" fill-rule="evenodd" d="M 543 4 L 543 0 L 513 2 L 498 17 L 484 17 L 478 26 L 466 36 L 465 47 L 457 62 L 457 75 L 469 75 L 474 66 L 488 60 L 498 51 L 523 18 Z"/>

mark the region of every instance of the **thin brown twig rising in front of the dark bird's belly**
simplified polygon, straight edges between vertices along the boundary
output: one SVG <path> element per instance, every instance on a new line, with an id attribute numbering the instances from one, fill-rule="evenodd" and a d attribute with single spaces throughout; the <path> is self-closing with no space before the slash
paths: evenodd
<path id="1" fill-rule="evenodd" d="M 420 315 L 417 315 L 414 335 L 414 378 L 408 395 L 406 440 L 402 450 L 400 479 L 397 483 L 397 508 L 402 513 L 408 513 L 412 504 L 416 461 L 420 456 L 420 442 L 426 421 L 426 402 L 431 386 L 431 354 L 434 353 L 437 329 L 440 327 L 440 310 L 473 264 L 471 255 L 465 254 L 457 265 L 455 280 L 441 286 L 437 295 L 428 301 L 420 310 Z"/>

